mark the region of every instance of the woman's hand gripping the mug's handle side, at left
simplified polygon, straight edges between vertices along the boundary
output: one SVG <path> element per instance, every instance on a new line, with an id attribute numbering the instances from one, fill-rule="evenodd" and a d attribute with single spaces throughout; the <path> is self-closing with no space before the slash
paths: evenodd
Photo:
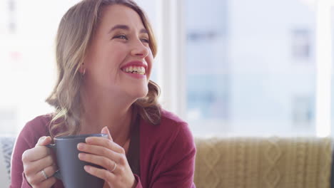
<path id="1" fill-rule="evenodd" d="M 36 146 L 26 150 L 22 155 L 24 174 L 31 187 L 50 188 L 56 183 L 56 178 L 52 176 L 57 169 L 56 163 L 51 149 L 45 146 L 49 144 L 51 137 L 40 137 Z"/>

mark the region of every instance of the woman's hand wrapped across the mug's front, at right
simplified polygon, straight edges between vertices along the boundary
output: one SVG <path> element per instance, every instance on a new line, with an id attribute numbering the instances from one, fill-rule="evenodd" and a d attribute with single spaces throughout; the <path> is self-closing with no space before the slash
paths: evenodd
<path id="1" fill-rule="evenodd" d="M 111 188 L 136 186 L 136 179 L 128 165 L 126 152 L 123 147 L 115 142 L 108 131 L 108 127 L 103 127 L 101 133 L 107 134 L 105 137 L 88 137 L 86 144 L 80 143 L 78 150 L 87 153 L 80 153 L 79 159 L 85 162 L 97 164 L 104 169 L 86 165 L 86 172 L 93 176 L 104 179 Z"/>

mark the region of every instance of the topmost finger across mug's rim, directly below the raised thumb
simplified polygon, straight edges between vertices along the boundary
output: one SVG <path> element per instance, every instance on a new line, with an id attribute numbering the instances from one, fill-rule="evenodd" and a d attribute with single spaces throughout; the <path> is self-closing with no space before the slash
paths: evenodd
<path id="1" fill-rule="evenodd" d="M 123 147 L 118 145 L 116 142 L 113 142 L 112 140 L 107 140 L 106 138 L 103 137 L 87 137 L 86 143 L 89 145 L 100 145 L 109 148 L 114 152 L 118 152 L 125 155 Z"/>

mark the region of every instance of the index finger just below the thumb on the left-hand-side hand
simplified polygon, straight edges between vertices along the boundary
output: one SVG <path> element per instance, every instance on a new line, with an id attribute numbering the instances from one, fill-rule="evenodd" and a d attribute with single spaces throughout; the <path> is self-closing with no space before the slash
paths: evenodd
<path id="1" fill-rule="evenodd" d="M 22 154 L 22 162 L 34 162 L 50 154 L 50 149 L 45 146 L 36 146 L 24 151 Z"/>

